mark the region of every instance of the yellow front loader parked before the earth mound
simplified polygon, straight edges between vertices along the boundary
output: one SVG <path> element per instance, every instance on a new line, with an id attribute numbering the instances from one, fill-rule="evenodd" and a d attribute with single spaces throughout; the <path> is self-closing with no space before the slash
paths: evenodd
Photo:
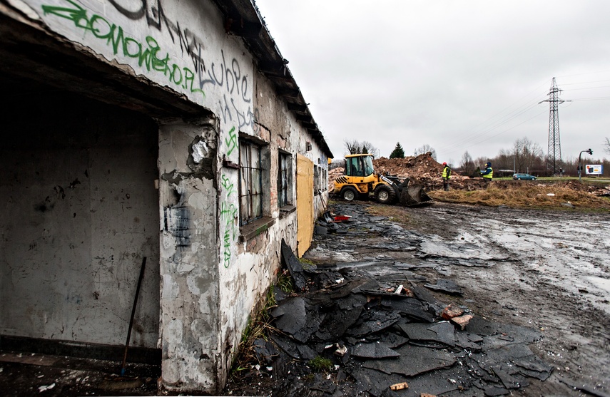
<path id="1" fill-rule="evenodd" d="M 381 204 L 398 200 L 402 205 L 413 206 L 432 201 L 421 186 L 409 187 L 408 178 L 375 172 L 372 159 L 368 154 L 345 156 L 345 173 L 335 179 L 333 193 L 346 201 L 374 197 Z"/>

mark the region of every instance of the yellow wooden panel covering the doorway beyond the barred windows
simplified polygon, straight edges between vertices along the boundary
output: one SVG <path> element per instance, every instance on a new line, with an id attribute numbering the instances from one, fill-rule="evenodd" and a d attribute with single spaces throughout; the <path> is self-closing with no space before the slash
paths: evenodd
<path id="1" fill-rule="evenodd" d="M 313 237 L 313 162 L 297 155 L 297 254 L 303 257 Z"/>

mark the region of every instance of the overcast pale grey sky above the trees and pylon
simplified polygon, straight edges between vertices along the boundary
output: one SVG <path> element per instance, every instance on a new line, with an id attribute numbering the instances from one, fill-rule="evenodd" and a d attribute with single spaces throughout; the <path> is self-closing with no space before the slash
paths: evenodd
<path id="1" fill-rule="evenodd" d="M 255 0 L 335 158 L 493 158 L 527 137 L 547 154 L 551 79 L 563 160 L 609 158 L 608 0 Z M 571 102 L 568 102 L 571 100 Z"/>

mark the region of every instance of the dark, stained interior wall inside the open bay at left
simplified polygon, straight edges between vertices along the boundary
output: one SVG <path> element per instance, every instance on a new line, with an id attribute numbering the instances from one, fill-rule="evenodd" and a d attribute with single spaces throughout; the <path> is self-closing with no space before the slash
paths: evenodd
<path id="1" fill-rule="evenodd" d="M 80 96 L 14 96 L 3 110 L 0 329 L 12 336 L 158 339 L 156 123 Z"/>

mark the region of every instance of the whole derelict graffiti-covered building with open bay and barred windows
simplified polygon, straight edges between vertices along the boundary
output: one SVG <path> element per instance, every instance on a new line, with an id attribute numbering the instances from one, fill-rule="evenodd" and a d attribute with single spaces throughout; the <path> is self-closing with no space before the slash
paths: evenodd
<path id="1" fill-rule="evenodd" d="M 0 349 L 123 346 L 146 263 L 131 346 L 170 390 L 223 387 L 332 158 L 262 21 L 251 0 L 0 3 Z"/>

